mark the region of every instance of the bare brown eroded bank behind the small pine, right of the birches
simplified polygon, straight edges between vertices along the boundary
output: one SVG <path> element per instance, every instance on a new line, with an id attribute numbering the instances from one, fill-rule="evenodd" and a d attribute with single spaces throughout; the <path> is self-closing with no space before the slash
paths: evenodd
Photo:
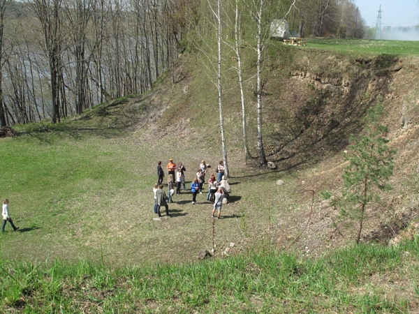
<path id="1" fill-rule="evenodd" d="M 281 169 L 302 165 L 295 191 L 314 190 L 315 202 L 311 211 L 310 193 L 302 193 L 300 206 L 279 219 L 278 244 L 288 247 L 307 221 L 307 230 L 293 244 L 304 254 L 317 255 L 353 242 L 356 223 L 339 220 L 339 210 L 319 200 L 319 193 L 326 188 L 338 193 L 343 184 L 341 154 L 349 136 L 362 132 L 365 112 L 378 100 L 385 107 L 382 123 L 389 127 L 390 146 L 398 153 L 390 180 L 393 189 L 380 204 L 369 207 L 362 241 L 387 244 L 418 218 L 418 59 L 309 52 L 300 54 L 289 70 L 288 80 L 277 87 L 284 92 L 270 96 L 280 112 L 287 108 L 291 112 L 271 133 L 270 159 Z"/>

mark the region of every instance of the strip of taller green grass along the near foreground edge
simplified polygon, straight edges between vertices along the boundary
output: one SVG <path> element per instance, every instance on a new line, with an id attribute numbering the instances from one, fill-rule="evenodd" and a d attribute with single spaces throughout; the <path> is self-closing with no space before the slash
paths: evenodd
<path id="1" fill-rule="evenodd" d="M 418 257 L 416 239 L 316 260 L 259 251 L 142 267 L 2 261 L 0 305 L 4 313 L 417 313 Z"/>

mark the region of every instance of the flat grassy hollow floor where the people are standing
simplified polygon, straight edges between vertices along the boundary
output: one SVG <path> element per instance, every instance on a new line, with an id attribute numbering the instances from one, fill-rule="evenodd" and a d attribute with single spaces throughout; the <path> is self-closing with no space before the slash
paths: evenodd
<path id="1" fill-rule="evenodd" d="M 0 237 L 3 257 L 71 262 L 103 258 L 108 264 L 134 265 L 181 262 L 211 250 L 212 204 L 206 200 L 206 189 L 196 205 L 191 204 L 189 191 L 175 195 L 172 218 L 156 222 L 152 186 L 158 160 L 164 165 L 169 158 L 182 161 L 190 188 L 200 160 L 215 165 L 220 156 L 204 147 L 197 151 L 195 145 L 179 149 L 164 141 L 145 142 L 119 128 L 104 132 L 101 126 L 107 125 L 108 121 L 75 121 L 46 125 L 49 131 L 41 133 L 24 126 L 20 130 L 27 135 L 1 140 L 1 198 L 10 200 L 10 214 L 21 228 L 13 232 L 6 225 Z M 232 156 L 231 162 L 237 160 Z M 246 174 L 240 167 L 233 170 L 231 203 L 216 222 L 218 246 L 240 243 L 288 210 L 284 201 L 288 188 L 282 189 L 284 195 L 248 193 L 268 190 L 277 177 L 258 168 Z M 271 208 L 265 205 L 268 195 Z"/>

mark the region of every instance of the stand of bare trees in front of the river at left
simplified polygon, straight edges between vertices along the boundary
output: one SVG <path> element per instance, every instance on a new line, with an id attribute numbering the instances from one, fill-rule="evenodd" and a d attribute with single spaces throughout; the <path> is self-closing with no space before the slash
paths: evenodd
<path id="1" fill-rule="evenodd" d="M 172 66 L 199 5 L 198 0 L 28 1 L 15 3 L 12 13 L 5 10 L 8 0 L 0 0 L 0 125 L 46 117 L 56 123 L 94 103 L 147 91 Z M 4 14 L 14 19 L 6 29 Z M 13 57 L 5 58 L 5 47 Z"/>

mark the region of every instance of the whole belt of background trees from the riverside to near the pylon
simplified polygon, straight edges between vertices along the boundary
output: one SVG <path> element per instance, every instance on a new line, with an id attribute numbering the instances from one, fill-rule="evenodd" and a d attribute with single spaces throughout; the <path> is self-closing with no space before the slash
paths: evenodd
<path id="1" fill-rule="evenodd" d="M 140 94 L 172 70 L 183 36 L 208 36 L 209 0 L 0 0 L 0 124 L 52 123 L 110 98 Z M 224 0 L 223 23 L 237 4 L 243 40 L 286 18 L 300 36 L 362 38 L 353 0 Z M 205 23 L 204 23 L 205 24 Z M 210 26 L 208 26 L 210 25 Z M 205 29 L 203 31 L 203 28 Z M 205 37 L 205 36 L 203 36 Z"/>

